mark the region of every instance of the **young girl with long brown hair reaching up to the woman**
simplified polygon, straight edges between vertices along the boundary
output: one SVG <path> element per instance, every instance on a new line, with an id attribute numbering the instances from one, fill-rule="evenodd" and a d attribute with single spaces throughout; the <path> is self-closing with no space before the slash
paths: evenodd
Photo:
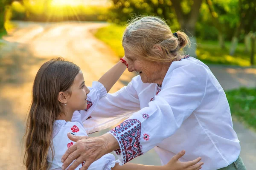
<path id="1" fill-rule="evenodd" d="M 125 57 L 122 59 L 125 63 Z M 90 113 L 99 99 L 105 97 L 125 71 L 126 65 L 118 62 L 91 88 L 84 85 L 80 68 L 62 58 L 45 62 L 35 76 L 32 105 L 26 129 L 24 164 L 27 170 L 61 170 L 61 157 L 72 142 L 67 133 L 87 136 L 82 122 L 90 119 Z M 78 111 L 81 110 L 81 113 Z M 98 146 L 93 146 L 98 147 Z M 127 163 L 119 166 L 112 154 L 102 156 L 88 170 L 198 170 L 201 158 L 190 162 L 178 159 L 184 151 L 174 156 L 164 166 L 145 166 Z M 79 170 L 84 162 L 76 168 Z"/>

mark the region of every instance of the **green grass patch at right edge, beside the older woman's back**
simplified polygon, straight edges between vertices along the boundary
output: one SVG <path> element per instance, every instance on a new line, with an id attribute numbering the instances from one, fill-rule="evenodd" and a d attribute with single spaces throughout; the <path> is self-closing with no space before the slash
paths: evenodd
<path id="1" fill-rule="evenodd" d="M 231 114 L 256 130 L 256 89 L 240 88 L 226 92 Z"/>

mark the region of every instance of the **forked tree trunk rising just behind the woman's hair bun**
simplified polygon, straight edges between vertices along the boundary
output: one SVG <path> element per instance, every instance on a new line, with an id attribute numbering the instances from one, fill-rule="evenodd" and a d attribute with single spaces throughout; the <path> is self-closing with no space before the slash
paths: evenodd
<path id="1" fill-rule="evenodd" d="M 183 10 L 182 5 L 186 3 L 189 7 L 188 11 Z M 190 37 L 191 48 L 187 48 L 187 54 L 196 57 L 196 36 L 195 36 L 195 24 L 198 20 L 199 9 L 201 7 L 202 0 L 172 0 L 172 7 L 177 15 L 177 20 L 180 23 L 180 28 L 184 29 L 184 32 Z M 191 37 L 192 35 L 192 37 Z"/>

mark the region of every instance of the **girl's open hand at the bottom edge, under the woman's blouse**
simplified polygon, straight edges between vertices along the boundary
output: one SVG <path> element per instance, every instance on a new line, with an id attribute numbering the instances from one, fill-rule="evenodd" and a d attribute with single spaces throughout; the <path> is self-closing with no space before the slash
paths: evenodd
<path id="1" fill-rule="evenodd" d="M 177 155 L 173 156 L 172 159 L 163 166 L 163 170 L 200 170 L 204 162 L 201 161 L 201 158 L 197 158 L 193 161 L 181 162 L 179 159 L 185 155 L 185 150 L 182 150 Z"/>

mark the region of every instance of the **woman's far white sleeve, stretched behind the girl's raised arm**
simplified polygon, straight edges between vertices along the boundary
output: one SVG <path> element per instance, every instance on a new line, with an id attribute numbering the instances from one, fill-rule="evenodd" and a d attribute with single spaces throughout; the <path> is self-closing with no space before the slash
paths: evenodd
<path id="1" fill-rule="evenodd" d="M 87 133 L 93 133 L 116 125 L 128 118 L 135 111 L 140 110 L 140 100 L 137 94 L 137 77 L 114 94 L 99 100 L 89 119 L 83 121 Z"/>

